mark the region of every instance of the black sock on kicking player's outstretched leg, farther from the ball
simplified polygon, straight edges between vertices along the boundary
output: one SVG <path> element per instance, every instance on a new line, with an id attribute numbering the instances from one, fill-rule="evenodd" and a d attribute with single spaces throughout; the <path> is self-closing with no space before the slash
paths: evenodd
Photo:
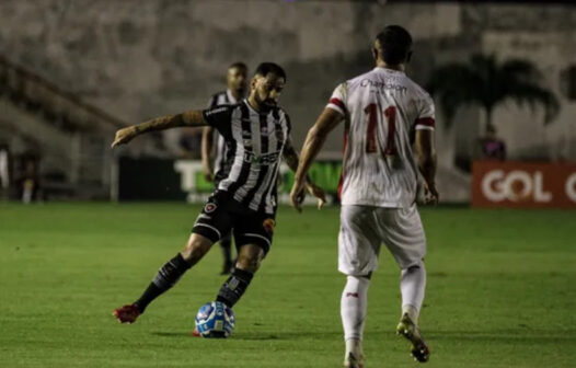
<path id="1" fill-rule="evenodd" d="M 152 300 L 158 298 L 162 292 L 170 289 L 180 277 L 191 267 L 191 265 L 184 261 L 182 254 L 176 254 L 175 257 L 170 260 L 166 264 L 160 268 L 154 279 L 148 288 L 145 290 L 140 299 L 138 299 L 135 304 L 138 306 L 140 313 L 143 313 L 146 307 Z"/>

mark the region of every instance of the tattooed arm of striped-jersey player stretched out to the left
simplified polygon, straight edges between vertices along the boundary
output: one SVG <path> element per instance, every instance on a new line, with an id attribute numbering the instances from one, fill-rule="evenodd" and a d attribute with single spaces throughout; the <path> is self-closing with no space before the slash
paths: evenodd
<path id="1" fill-rule="evenodd" d="M 176 127 L 184 127 L 184 126 L 204 126 L 207 125 L 206 120 L 204 119 L 204 116 L 201 114 L 201 111 L 199 110 L 191 110 L 181 114 L 176 115 L 166 115 L 153 118 L 151 120 L 133 125 L 123 129 L 119 129 L 116 131 L 116 137 L 114 138 L 114 141 L 112 142 L 112 148 L 119 146 L 119 145 L 126 145 L 130 140 L 133 140 L 136 136 L 139 136 L 141 134 L 148 133 L 148 131 L 157 131 L 157 130 L 164 130 L 170 128 L 176 128 Z"/>

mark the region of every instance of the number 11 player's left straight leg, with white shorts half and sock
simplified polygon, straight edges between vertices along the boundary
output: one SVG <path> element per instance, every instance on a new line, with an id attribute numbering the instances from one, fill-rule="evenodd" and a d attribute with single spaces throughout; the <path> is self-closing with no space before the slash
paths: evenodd
<path id="1" fill-rule="evenodd" d="M 347 275 L 342 292 L 341 317 L 344 327 L 344 366 L 364 366 L 362 335 L 368 304 L 370 275 L 378 267 L 380 239 L 373 231 L 373 209 L 342 206 L 338 234 L 338 271 Z"/>

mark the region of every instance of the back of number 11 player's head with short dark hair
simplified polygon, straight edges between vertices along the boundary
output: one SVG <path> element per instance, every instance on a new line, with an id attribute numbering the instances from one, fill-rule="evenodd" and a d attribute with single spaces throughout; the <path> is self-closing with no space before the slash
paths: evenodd
<path id="1" fill-rule="evenodd" d="M 388 65 L 399 65 L 407 61 L 412 50 L 412 36 L 400 25 L 388 25 L 376 39 L 382 48 L 382 59 Z"/>

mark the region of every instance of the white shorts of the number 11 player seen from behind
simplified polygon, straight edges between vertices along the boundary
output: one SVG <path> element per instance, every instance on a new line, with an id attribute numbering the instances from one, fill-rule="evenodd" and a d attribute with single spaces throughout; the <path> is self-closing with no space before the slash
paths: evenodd
<path id="1" fill-rule="evenodd" d="M 382 243 L 401 268 L 408 268 L 424 258 L 426 237 L 415 205 L 408 208 L 342 206 L 338 234 L 341 273 L 365 276 L 376 271 Z"/>

